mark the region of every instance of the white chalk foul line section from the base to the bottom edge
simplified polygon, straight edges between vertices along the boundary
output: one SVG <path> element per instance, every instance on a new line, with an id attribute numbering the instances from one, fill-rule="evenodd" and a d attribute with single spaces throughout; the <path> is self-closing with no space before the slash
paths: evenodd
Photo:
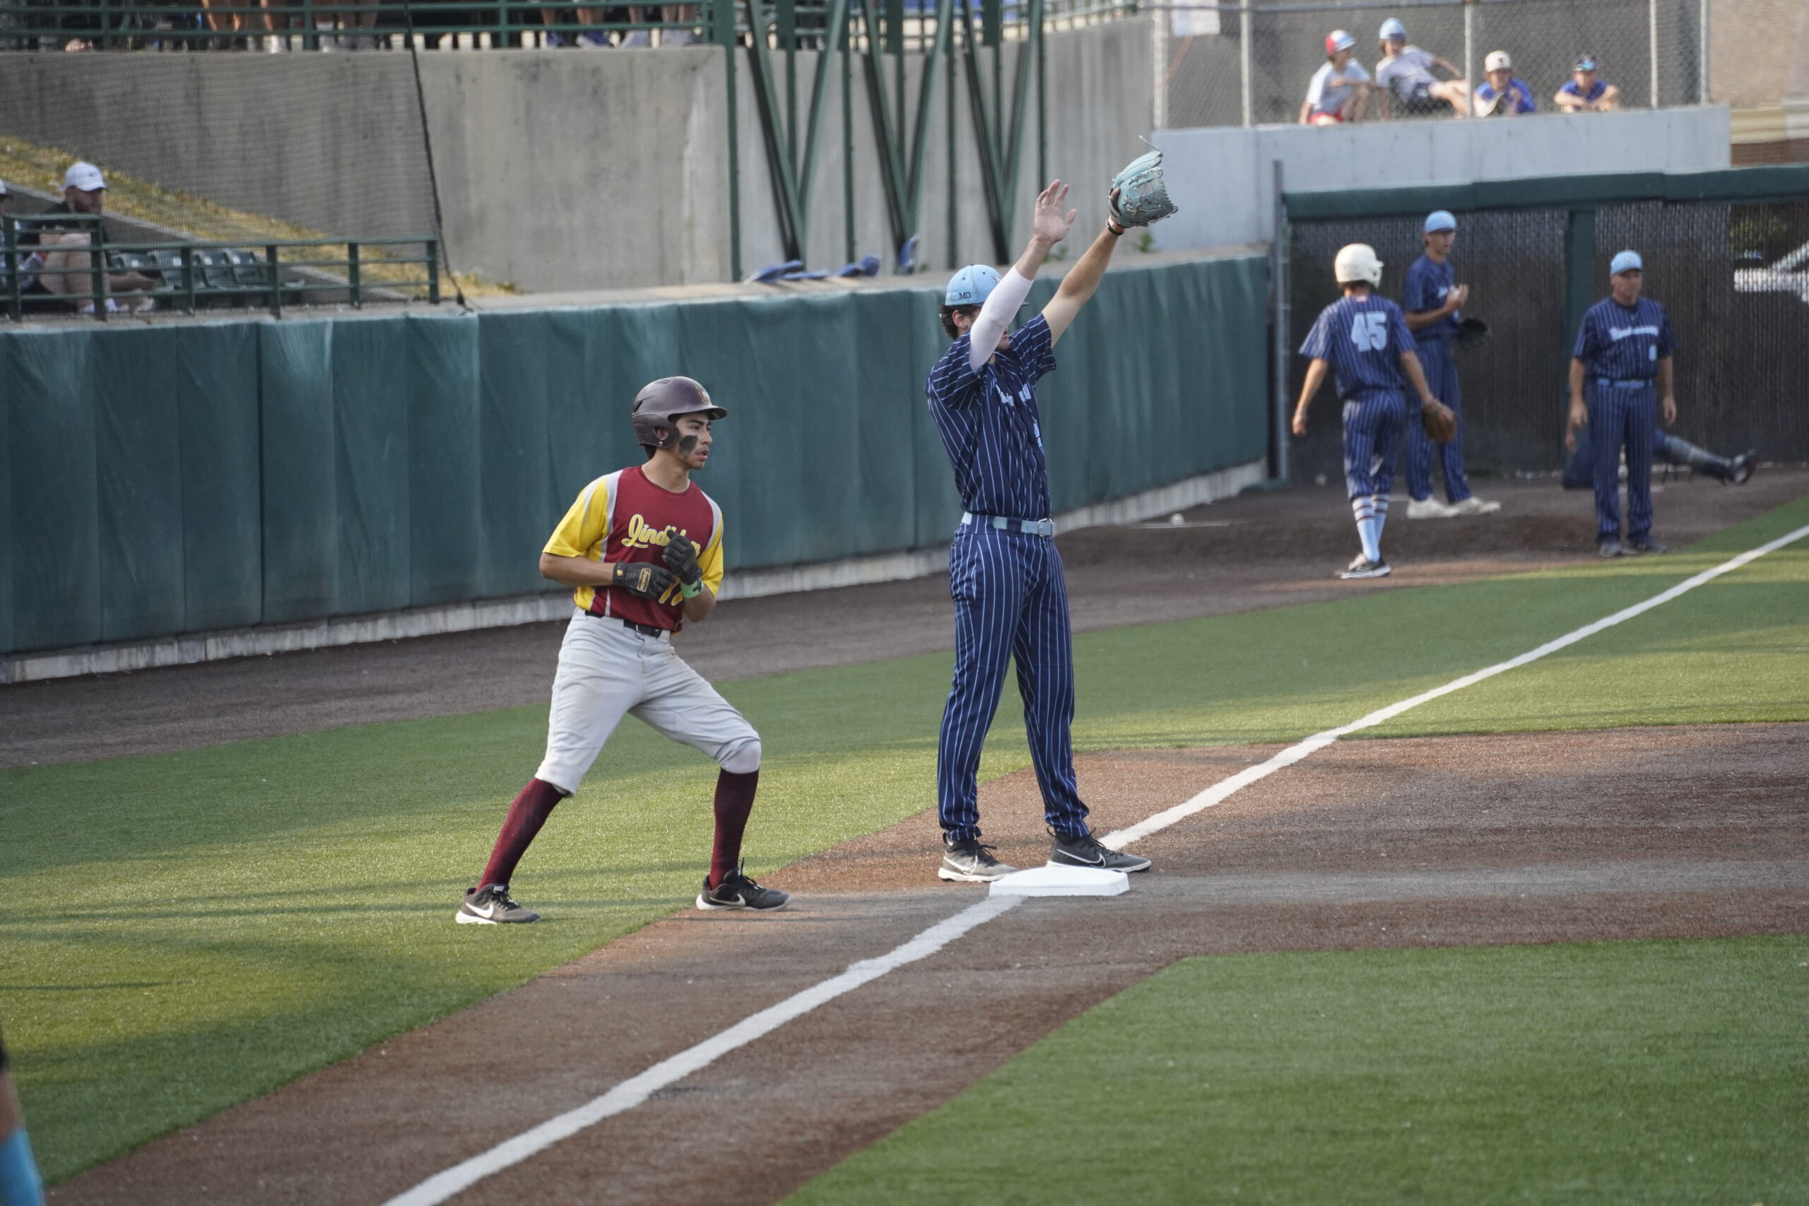
<path id="1" fill-rule="evenodd" d="M 904 964 L 915 964 L 919 958 L 935 955 L 961 935 L 968 933 L 975 926 L 984 926 L 1006 909 L 1017 906 L 1020 900 L 1024 900 L 1024 897 L 982 897 L 953 917 L 930 926 L 910 942 L 886 951 L 879 958 L 863 958 L 857 964 L 848 964 L 848 969 L 839 976 L 832 976 L 821 984 L 812 984 L 801 993 L 787 996 L 778 1005 L 769 1005 L 767 1009 L 736 1022 L 727 1031 L 713 1034 L 695 1047 L 686 1047 L 677 1056 L 660 1060 L 646 1072 L 631 1076 L 601 1098 L 586 1101 L 575 1110 L 566 1110 L 557 1117 L 550 1117 L 534 1130 L 526 1130 L 514 1139 L 505 1139 L 488 1152 L 479 1152 L 470 1157 L 463 1164 L 454 1164 L 452 1168 L 420 1182 L 407 1193 L 389 1199 L 384 1206 L 436 1206 L 436 1202 L 447 1201 L 454 1193 L 483 1181 L 490 1173 L 501 1172 L 510 1164 L 519 1164 L 530 1155 L 545 1152 L 561 1139 L 570 1139 L 586 1126 L 601 1123 L 613 1114 L 633 1110 L 660 1088 L 682 1081 L 686 1076 L 691 1076 L 691 1072 L 709 1067 L 736 1047 L 745 1047 L 756 1038 L 771 1034 L 792 1018 L 803 1016 L 818 1005 L 836 1000 L 843 993 L 852 993 L 868 980 L 877 980 Z"/>

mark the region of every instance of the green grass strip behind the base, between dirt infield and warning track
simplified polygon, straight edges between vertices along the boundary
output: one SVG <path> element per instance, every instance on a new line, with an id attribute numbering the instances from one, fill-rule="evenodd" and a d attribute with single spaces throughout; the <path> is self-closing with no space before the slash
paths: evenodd
<path id="1" fill-rule="evenodd" d="M 1283 741 L 1521 653 L 1809 523 L 1657 561 L 1076 640 L 1080 749 Z M 946 655 L 727 683 L 767 749 L 751 870 L 933 803 Z M 548 665 L 548 674 L 552 667 Z M 1015 693 L 986 774 L 1028 765 Z M 1809 542 L 1388 736 L 1809 720 Z M 541 756 L 545 707 L 0 770 L 0 1022 L 45 1173 L 116 1155 L 684 904 L 713 767 L 626 725 L 517 875 L 528 931 L 450 913 Z"/>

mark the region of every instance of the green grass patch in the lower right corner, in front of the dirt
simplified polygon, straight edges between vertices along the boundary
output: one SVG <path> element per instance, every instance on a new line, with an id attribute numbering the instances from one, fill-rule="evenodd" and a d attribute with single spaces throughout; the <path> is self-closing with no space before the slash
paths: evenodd
<path id="1" fill-rule="evenodd" d="M 1190 958 L 789 1206 L 1809 1202 L 1809 938 Z"/>

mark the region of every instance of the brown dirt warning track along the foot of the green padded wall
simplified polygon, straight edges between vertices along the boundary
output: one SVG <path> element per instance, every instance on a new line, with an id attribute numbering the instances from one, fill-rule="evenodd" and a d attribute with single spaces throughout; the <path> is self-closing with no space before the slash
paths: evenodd
<path id="1" fill-rule="evenodd" d="M 1586 492 L 1552 479 L 1480 481 L 1498 515 L 1388 524 L 1395 575 L 1337 582 L 1357 551 L 1342 490 L 1252 494 L 1189 526 L 1087 528 L 1060 537 L 1076 631 L 1149 624 L 1514 573 L 1586 559 Z M 1700 539 L 1809 494 L 1809 470 L 1746 486 L 1659 483 L 1657 533 Z M 525 555 L 532 555 L 526 550 Z M 541 703 L 563 622 L 241 658 L 137 674 L 0 687 L 0 767 L 85 761 L 219 741 Z M 953 644 L 941 577 L 725 602 L 680 649 L 707 678 L 749 678 L 932 653 Z M 94 718 L 105 716 L 105 725 Z"/>

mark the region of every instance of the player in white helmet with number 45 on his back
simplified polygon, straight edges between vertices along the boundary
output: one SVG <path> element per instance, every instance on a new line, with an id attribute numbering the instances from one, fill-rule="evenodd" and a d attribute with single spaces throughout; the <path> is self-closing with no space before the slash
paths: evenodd
<path id="1" fill-rule="evenodd" d="M 1312 363 L 1306 365 L 1301 403 L 1293 409 L 1293 434 L 1306 434 L 1306 409 L 1330 369 L 1344 403 L 1344 485 L 1357 517 L 1357 539 L 1362 541 L 1362 551 L 1339 577 L 1380 579 L 1389 573 L 1382 559 L 1382 526 L 1388 523 L 1388 488 L 1395 481 L 1400 425 L 1407 418 L 1400 372 L 1413 382 L 1422 407 L 1438 405 L 1438 398 L 1425 383 L 1400 307 L 1375 295 L 1382 286 L 1382 260 L 1375 259 L 1375 250 L 1353 242 L 1339 250 L 1331 268 L 1344 297 L 1319 311 L 1301 344 L 1301 354 Z"/>

